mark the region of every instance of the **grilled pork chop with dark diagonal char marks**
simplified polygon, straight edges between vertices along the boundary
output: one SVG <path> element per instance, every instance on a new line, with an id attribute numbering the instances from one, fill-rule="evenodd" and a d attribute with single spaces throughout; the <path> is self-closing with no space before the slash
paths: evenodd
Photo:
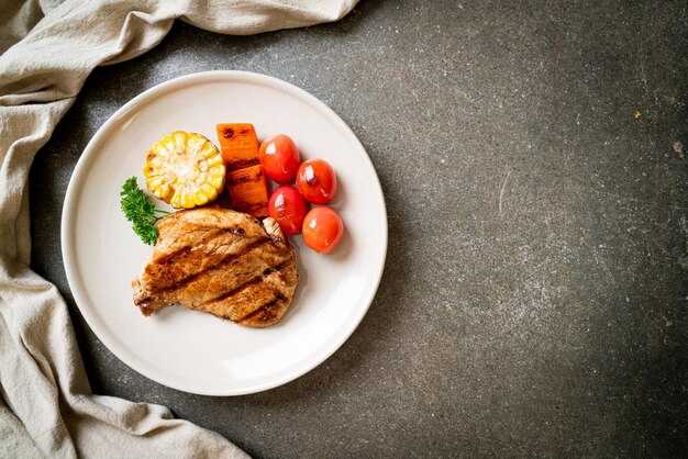
<path id="1" fill-rule="evenodd" d="M 179 304 L 241 325 L 285 314 L 299 279 L 293 248 L 273 219 L 226 209 L 180 211 L 159 221 L 151 259 L 132 282 L 144 315 Z"/>

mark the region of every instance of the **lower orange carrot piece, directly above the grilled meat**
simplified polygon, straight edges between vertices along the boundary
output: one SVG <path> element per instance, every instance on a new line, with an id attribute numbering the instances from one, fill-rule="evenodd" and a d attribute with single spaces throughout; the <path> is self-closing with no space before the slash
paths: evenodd
<path id="1" fill-rule="evenodd" d="M 226 173 L 226 189 L 232 209 L 257 219 L 267 216 L 269 189 L 260 165 L 245 167 Z"/>

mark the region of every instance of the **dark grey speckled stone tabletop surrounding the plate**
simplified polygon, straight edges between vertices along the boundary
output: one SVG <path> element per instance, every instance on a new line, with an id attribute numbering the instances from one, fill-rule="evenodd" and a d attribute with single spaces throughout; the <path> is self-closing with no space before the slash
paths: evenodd
<path id="1" fill-rule="evenodd" d="M 69 302 L 93 390 L 160 403 L 256 457 L 672 457 L 688 434 L 688 2 L 368 1 L 232 37 L 177 23 L 100 68 L 38 154 L 33 267 Z M 135 373 L 70 296 L 59 214 L 119 107 L 241 69 L 320 98 L 389 212 L 369 313 L 275 390 L 189 395 Z M 640 112 L 639 116 L 635 112 Z"/>

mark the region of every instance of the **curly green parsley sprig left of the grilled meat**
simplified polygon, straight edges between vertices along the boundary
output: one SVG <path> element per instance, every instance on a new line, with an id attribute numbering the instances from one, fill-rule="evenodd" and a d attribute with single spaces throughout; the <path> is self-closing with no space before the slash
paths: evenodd
<path id="1" fill-rule="evenodd" d="M 138 188 L 136 177 L 126 179 L 120 192 L 120 206 L 126 220 L 132 222 L 134 233 L 141 237 L 144 244 L 154 245 L 157 242 L 157 228 L 155 225 L 163 217 L 157 214 L 169 214 L 162 211 L 148 201 L 146 194 Z"/>

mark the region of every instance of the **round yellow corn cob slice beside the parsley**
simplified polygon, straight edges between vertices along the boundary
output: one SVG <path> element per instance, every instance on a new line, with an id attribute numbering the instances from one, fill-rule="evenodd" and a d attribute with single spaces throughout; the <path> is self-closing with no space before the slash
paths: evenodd
<path id="1" fill-rule="evenodd" d="M 218 198 L 224 184 L 222 154 L 207 137 L 176 131 L 146 155 L 146 187 L 177 209 L 191 209 Z"/>

